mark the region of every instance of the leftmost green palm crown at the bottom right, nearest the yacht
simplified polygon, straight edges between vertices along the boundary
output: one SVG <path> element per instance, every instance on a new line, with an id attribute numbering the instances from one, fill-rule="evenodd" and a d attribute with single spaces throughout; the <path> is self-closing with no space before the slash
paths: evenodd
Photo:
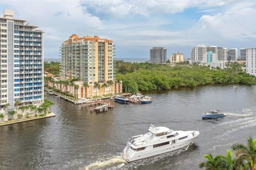
<path id="1" fill-rule="evenodd" d="M 205 167 L 206 170 L 221 170 L 221 158 L 219 156 L 213 157 L 212 154 L 204 155 L 204 158 L 207 159 L 206 162 L 199 164 L 199 168 Z"/>

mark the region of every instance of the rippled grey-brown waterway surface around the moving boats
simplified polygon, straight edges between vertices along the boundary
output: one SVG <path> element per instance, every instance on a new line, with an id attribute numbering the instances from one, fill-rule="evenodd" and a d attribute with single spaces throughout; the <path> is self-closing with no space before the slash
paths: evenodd
<path id="1" fill-rule="evenodd" d="M 48 96 L 56 117 L 0 127 L 0 169 L 198 169 L 203 155 L 225 154 L 233 143 L 256 138 L 256 86 L 226 85 L 150 91 L 148 105 L 122 105 L 105 113 Z M 202 121 L 209 109 L 227 117 Z M 120 152 L 148 126 L 198 130 L 189 148 L 126 164 Z"/>

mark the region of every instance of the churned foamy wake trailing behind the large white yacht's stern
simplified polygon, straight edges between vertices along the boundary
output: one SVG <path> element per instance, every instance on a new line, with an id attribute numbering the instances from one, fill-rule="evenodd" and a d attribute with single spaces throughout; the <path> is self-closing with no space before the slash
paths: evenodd
<path id="1" fill-rule="evenodd" d="M 83 170 L 90 170 L 90 169 L 107 169 L 110 168 L 111 169 L 119 169 L 122 166 L 124 166 L 125 164 L 125 160 L 122 159 L 121 156 L 115 156 L 110 158 L 109 160 L 99 160 L 95 163 L 92 163 L 86 167 L 83 167 L 81 169 Z"/>

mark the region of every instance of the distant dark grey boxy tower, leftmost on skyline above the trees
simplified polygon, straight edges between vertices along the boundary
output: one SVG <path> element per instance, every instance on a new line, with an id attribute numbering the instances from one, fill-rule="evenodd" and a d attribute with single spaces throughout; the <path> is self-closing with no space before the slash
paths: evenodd
<path id="1" fill-rule="evenodd" d="M 166 63 L 166 48 L 153 47 L 150 49 L 150 63 L 151 64 L 165 64 Z"/>

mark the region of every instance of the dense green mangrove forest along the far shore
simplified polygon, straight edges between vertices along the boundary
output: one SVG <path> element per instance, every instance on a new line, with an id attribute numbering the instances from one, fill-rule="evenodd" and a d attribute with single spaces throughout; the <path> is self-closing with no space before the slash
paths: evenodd
<path id="1" fill-rule="evenodd" d="M 236 63 L 228 65 L 225 70 L 213 70 L 196 64 L 182 63 L 172 67 L 167 64 L 117 61 L 116 72 L 116 78 L 123 81 L 123 91 L 132 93 L 213 83 L 255 84 L 254 76 L 242 72 Z"/>

